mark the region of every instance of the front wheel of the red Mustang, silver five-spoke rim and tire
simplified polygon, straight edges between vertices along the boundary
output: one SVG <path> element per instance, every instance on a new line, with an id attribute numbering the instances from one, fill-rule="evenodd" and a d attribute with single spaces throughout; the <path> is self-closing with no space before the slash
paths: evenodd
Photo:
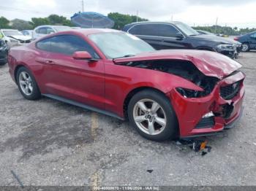
<path id="1" fill-rule="evenodd" d="M 173 106 L 165 95 L 155 90 L 135 94 L 129 101 L 128 117 L 131 125 L 146 139 L 165 141 L 177 136 L 178 122 Z"/>

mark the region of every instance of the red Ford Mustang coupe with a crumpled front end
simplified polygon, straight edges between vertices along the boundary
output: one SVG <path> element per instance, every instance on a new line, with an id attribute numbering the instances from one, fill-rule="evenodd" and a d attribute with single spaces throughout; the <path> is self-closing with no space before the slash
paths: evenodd
<path id="1" fill-rule="evenodd" d="M 129 118 L 155 141 L 219 133 L 242 113 L 241 65 L 216 52 L 155 51 L 121 31 L 86 29 L 14 47 L 8 61 L 25 98 Z"/>

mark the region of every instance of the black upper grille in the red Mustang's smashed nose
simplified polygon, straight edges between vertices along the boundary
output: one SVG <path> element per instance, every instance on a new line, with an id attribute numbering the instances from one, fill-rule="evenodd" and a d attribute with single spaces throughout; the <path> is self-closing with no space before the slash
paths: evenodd
<path id="1" fill-rule="evenodd" d="M 234 98 L 239 90 L 240 90 L 241 81 L 238 81 L 236 83 L 233 83 L 232 85 L 226 85 L 223 87 L 220 87 L 220 95 L 225 100 L 229 100 Z"/>

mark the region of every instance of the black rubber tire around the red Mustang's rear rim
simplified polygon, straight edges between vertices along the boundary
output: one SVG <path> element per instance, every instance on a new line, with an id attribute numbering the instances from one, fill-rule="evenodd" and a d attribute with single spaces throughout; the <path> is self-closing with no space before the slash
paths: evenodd
<path id="1" fill-rule="evenodd" d="M 31 78 L 32 90 L 29 95 L 26 95 L 26 93 L 23 91 L 23 88 L 21 87 L 21 84 L 20 84 L 20 75 L 22 72 L 25 72 Z M 20 90 L 20 93 L 23 95 L 24 98 L 26 98 L 28 100 L 37 100 L 37 99 L 41 98 L 41 93 L 40 93 L 39 87 L 37 85 L 37 82 L 34 79 L 33 74 L 31 74 L 31 71 L 29 71 L 29 69 L 26 69 L 25 67 L 20 67 L 17 71 L 16 80 L 17 80 L 17 85 Z"/>

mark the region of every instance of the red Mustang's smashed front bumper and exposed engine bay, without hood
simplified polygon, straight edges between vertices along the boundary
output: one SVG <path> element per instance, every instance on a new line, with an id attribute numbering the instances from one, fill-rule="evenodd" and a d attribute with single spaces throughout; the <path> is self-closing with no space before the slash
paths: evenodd
<path id="1" fill-rule="evenodd" d="M 227 74 L 225 77 L 217 77 L 217 72 L 208 76 L 202 72 L 203 66 L 200 68 L 192 61 L 184 60 L 129 61 L 118 64 L 165 72 L 196 85 L 195 90 L 179 83 L 167 93 L 176 111 L 182 138 L 219 133 L 229 128 L 241 115 L 245 77 L 241 71 L 227 74 L 228 71 L 222 69 Z"/>

